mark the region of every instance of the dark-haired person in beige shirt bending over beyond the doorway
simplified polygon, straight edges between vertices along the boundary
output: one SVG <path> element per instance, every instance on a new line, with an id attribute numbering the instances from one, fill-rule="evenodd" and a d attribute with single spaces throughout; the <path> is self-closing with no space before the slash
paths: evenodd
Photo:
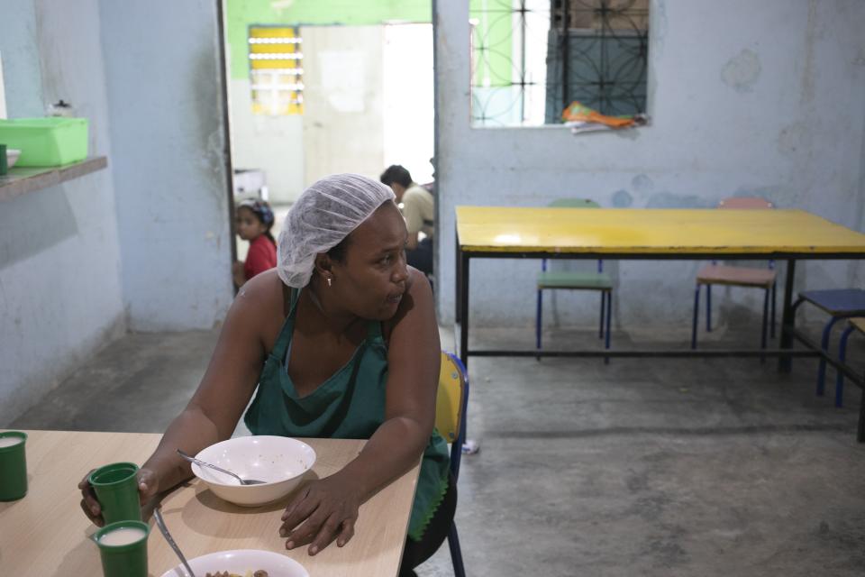
<path id="1" fill-rule="evenodd" d="M 432 234 L 435 229 L 435 200 L 430 191 L 414 180 L 407 169 L 392 164 L 379 178 L 393 189 L 396 202 L 403 206 L 408 241 L 405 258 L 408 264 L 426 275 L 432 275 Z M 423 238 L 421 238 L 423 233 Z"/>

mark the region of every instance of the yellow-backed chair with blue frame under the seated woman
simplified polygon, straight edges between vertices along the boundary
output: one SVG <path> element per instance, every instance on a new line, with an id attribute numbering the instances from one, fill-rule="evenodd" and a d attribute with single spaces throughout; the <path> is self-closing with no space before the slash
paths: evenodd
<path id="1" fill-rule="evenodd" d="M 451 475 L 460 479 L 462 445 L 466 442 L 466 412 L 469 408 L 469 372 L 460 359 L 442 351 L 442 368 L 439 371 L 439 391 L 435 402 L 435 428 L 451 444 Z M 448 530 L 448 547 L 456 577 L 465 577 L 462 564 L 460 536 L 457 522 Z"/>

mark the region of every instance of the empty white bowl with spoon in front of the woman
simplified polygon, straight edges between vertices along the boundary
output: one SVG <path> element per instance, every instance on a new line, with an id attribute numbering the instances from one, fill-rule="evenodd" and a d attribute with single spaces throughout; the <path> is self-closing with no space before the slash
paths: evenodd
<path id="1" fill-rule="evenodd" d="M 233 477 L 210 467 L 192 465 L 192 472 L 207 483 L 214 494 L 236 505 L 258 507 L 282 499 L 313 468 L 315 451 L 308 444 L 287 436 L 240 436 L 212 444 L 196 458 L 235 472 L 243 479 L 266 481 L 241 485 Z"/>

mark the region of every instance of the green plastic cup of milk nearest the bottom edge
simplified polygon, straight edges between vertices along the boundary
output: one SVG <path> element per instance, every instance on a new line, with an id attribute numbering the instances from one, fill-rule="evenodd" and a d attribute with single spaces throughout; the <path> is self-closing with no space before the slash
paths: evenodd
<path id="1" fill-rule="evenodd" d="M 90 537 L 99 547 L 105 577 L 147 577 L 147 536 L 142 521 L 117 521 Z"/>

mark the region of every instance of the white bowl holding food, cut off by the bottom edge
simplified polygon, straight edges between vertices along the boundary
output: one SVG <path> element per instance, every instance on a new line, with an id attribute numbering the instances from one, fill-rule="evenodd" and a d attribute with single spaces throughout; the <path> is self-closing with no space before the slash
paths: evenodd
<path id="1" fill-rule="evenodd" d="M 196 577 L 309 577 L 304 566 L 291 557 L 255 549 L 201 555 L 190 559 L 189 566 Z M 162 577 L 189 577 L 189 573 L 181 563 Z"/>

